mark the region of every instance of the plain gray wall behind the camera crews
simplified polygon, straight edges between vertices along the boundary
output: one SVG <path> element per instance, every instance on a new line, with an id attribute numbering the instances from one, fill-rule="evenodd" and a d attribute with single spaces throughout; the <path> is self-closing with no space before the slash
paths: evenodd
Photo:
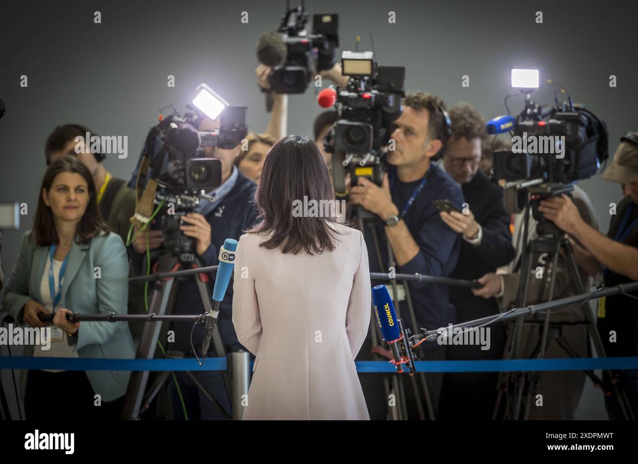
<path id="1" fill-rule="evenodd" d="M 309 13 L 339 13 L 340 50 L 369 50 L 373 33 L 380 64 L 406 66 L 406 89 L 438 94 L 448 106 L 468 101 L 486 119 L 505 113 L 511 67 L 540 67 L 567 87 L 574 101 L 605 119 L 610 151 L 638 129 L 635 2 L 611 1 L 312 1 Z M 105 161 L 128 179 L 158 109 L 184 110 L 200 82 L 232 105 L 249 107 L 249 129 L 268 115 L 256 86 L 256 40 L 275 29 L 285 1 L 52 1 L 0 3 L 0 201 L 26 202 L 20 231 L 3 234 L 3 268 L 10 274 L 20 237 L 31 227 L 44 143 L 58 124 L 77 122 L 102 135 L 128 135 L 128 158 Z M 94 24 L 93 12 L 101 12 Z M 248 24 L 241 12 L 248 11 Z M 389 24 L 389 11 L 396 24 Z M 535 12 L 542 11 L 543 24 Z M 20 87 L 27 75 L 28 87 Z M 175 88 L 167 76 L 175 76 Z M 470 87 L 461 77 L 470 77 Z M 618 87 L 609 87 L 616 75 Z M 324 83 L 324 86 L 326 84 Z M 551 103 L 553 92 L 535 94 Z M 312 135 L 320 112 L 316 92 L 291 96 L 288 133 Z M 522 98 L 510 100 L 518 112 Z M 599 177 L 581 182 L 604 232 L 609 203 L 620 187 Z M 8 278 L 8 275 L 7 275 Z M 585 401 L 581 417 L 600 417 L 602 396 Z M 595 405 L 588 403 L 595 402 Z"/>

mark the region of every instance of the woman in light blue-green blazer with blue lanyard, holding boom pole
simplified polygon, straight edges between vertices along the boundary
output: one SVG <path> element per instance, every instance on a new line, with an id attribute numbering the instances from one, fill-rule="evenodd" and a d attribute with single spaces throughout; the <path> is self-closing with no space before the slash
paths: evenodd
<path id="1" fill-rule="evenodd" d="M 97 196 L 91 172 L 77 158 L 64 156 L 48 167 L 33 229 L 22 237 L 3 298 L 20 324 L 50 330 L 50 343 L 27 345 L 25 355 L 135 357 L 126 322 L 66 320 L 68 313 L 127 312 L 126 248 L 102 220 Z M 53 325 L 38 317 L 47 313 L 54 313 Z M 24 370 L 26 418 L 117 418 L 129 378 L 126 371 Z"/>

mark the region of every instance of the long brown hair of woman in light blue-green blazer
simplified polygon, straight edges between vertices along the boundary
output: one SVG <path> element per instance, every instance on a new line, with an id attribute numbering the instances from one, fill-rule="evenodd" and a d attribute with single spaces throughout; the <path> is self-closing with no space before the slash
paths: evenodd
<path id="1" fill-rule="evenodd" d="M 95 190 L 95 183 L 89 168 L 87 168 L 79 158 L 75 156 L 61 156 L 51 163 L 42 179 L 40 190 L 38 191 L 38 208 L 36 209 L 36 217 L 33 221 L 33 229 L 31 237 L 33 237 L 38 246 L 50 246 L 58 244 L 56 225 L 53 220 L 53 211 L 47 206 L 42 198 L 42 190 L 47 191 L 47 195 L 51 190 L 53 181 L 61 172 L 73 172 L 80 174 L 86 181 L 89 190 L 89 204 L 86 206 L 84 215 L 77 226 L 78 243 L 89 243 L 92 237 L 100 236 L 101 233 L 108 234 L 110 228 L 102 219 Z"/>

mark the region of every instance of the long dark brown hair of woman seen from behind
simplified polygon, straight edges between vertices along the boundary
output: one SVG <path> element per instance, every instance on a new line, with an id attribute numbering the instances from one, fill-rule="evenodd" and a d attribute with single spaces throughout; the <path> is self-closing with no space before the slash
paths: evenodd
<path id="1" fill-rule="evenodd" d="M 332 251 L 339 232 L 329 223 L 332 217 L 295 217 L 295 200 L 332 200 L 328 167 L 319 147 L 308 137 L 289 135 L 272 146 L 263 163 L 262 176 L 255 193 L 259 220 L 247 232 L 271 234 L 260 246 L 296 255 Z"/>

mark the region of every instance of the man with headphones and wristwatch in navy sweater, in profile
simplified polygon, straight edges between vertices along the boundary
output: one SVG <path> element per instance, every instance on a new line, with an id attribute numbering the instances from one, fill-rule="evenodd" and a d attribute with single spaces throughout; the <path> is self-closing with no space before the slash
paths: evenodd
<path id="1" fill-rule="evenodd" d="M 440 156 L 450 137 L 445 103 L 432 94 L 408 94 L 403 101 L 403 113 L 394 124 L 396 128 L 390 135 L 390 140 L 394 140 L 394 150 L 387 153 L 388 172 L 383 176 L 382 186 L 359 177 L 358 184 L 350 188 L 351 202 L 380 218 L 373 227 L 376 229 L 382 262 L 379 262 L 373 245 L 371 227 L 364 230 L 370 270 L 387 273 L 390 266 L 395 266 L 396 273 L 447 276 L 456 266 L 461 236 L 441 220 L 433 200 L 449 200 L 452 206 L 461 211 L 464 198 L 454 179 L 432 162 L 436 156 Z M 392 250 L 396 264 L 389 259 L 388 248 Z M 387 281 L 375 285 L 378 283 Z M 421 327 L 438 329 L 456 322 L 456 311 L 450 304 L 445 285 L 412 281 L 409 290 L 417 319 L 415 321 L 410 317 L 407 302 L 401 301 L 404 300 L 403 289 L 397 292 L 399 310 L 406 327 L 412 331 Z M 369 338 L 366 343 L 369 343 Z M 365 359 L 370 351 L 366 349 L 366 343 L 360 351 L 361 359 Z M 389 353 L 379 348 L 375 347 L 374 351 L 390 357 Z M 424 343 L 419 359 L 445 359 L 445 345 Z M 372 377 L 379 376 L 366 374 L 360 378 L 370 418 L 385 419 L 386 403 L 380 401 L 383 385 L 380 390 L 378 384 L 371 385 Z M 436 414 L 442 374 L 427 374 L 426 379 Z M 408 403 L 412 403 L 412 388 L 406 387 L 405 390 Z M 382 408 L 374 410 L 375 405 Z M 412 410 L 414 414 L 415 409 Z"/>

